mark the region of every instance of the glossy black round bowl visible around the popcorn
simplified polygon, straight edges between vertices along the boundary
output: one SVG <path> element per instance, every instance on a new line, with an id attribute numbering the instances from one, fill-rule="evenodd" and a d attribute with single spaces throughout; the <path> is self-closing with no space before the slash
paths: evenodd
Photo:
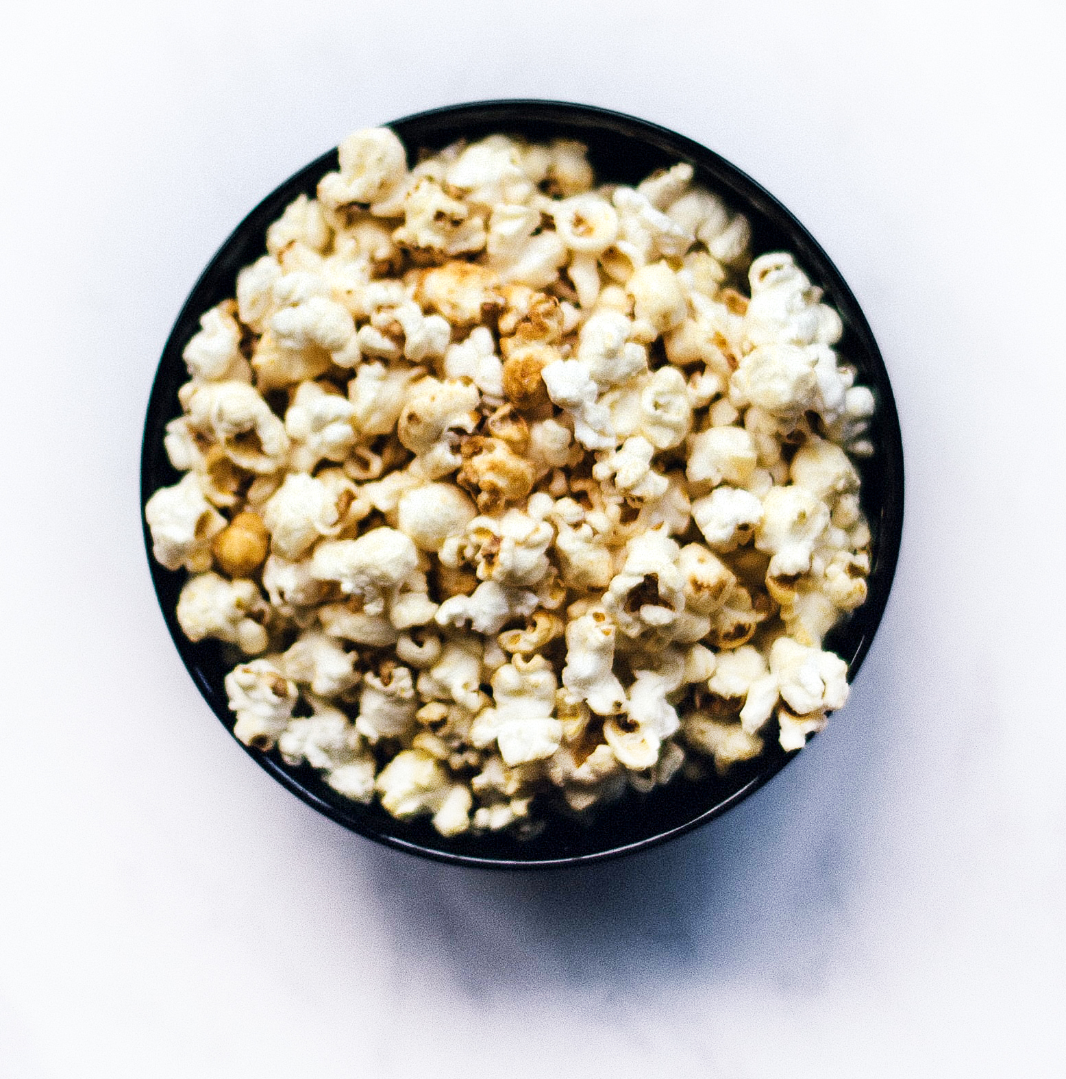
<path id="1" fill-rule="evenodd" d="M 604 181 L 636 183 L 656 168 L 687 161 L 698 180 L 748 216 L 755 254 L 792 251 L 811 281 L 825 290 L 826 302 L 844 320 L 839 352 L 856 366 L 859 381 L 873 390 L 877 400 L 871 431 L 876 452 L 859 463 L 862 505 L 873 531 L 869 598 L 833 629 L 825 643 L 848 661 L 849 680 L 853 679 L 885 611 L 896 570 L 903 527 L 903 449 L 888 372 L 866 319 L 810 233 L 773 195 L 716 153 L 682 135 L 617 112 L 556 101 L 482 101 L 422 112 L 388 126 L 412 158 L 421 149 L 437 150 L 459 138 L 479 138 L 493 132 L 531 140 L 579 139 L 588 145 L 597 177 Z M 331 150 L 269 194 L 237 226 L 196 282 L 163 350 L 152 386 L 141 450 L 142 508 L 153 491 L 180 478 L 163 450 L 163 434 L 166 423 L 180 414 L 177 390 L 188 378 L 181 352 L 196 332 L 201 314 L 234 295 L 237 271 L 265 250 L 266 227 L 301 192 L 313 196 L 319 178 L 337 164 L 337 151 Z M 233 715 L 222 686 L 228 670 L 222 648 L 211 641 L 193 644 L 182 634 L 175 609 L 186 574 L 165 570 L 152 558 L 147 525 L 145 543 L 174 643 L 207 704 L 232 732 Z M 725 778 L 715 776 L 713 768 L 707 769 L 708 778 L 698 781 L 679 776 L 648 795 L 630 792 L 621 802 L 600 807 L 589 820 L 551 814 L 539 835 L 520 839 L 509 834 L 445 838 L 426 819 L 397 821 L 377 803 L 360 805 L 342 797 L 310 766 L 290 767 L 276 751 L 264 754 L 248 750 L 248 754 L 309 805 L 353 832 L 428 858 L 509 869 L 591 862 L 681 835 L 735 806 L 795 755 L 774 743 L 758 760 L 735 767 Z"/>

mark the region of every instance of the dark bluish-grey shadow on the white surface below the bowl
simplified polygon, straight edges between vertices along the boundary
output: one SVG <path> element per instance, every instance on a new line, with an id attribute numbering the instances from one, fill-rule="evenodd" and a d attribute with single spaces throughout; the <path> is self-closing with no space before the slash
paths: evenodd
<path id="1" fill-rule="evenodd" d="M 345 836 L 400 966 L 428 952 L 474 997 L 560 987 L 615 995 L 738 976 L 816 986 L 840 945 L 891 781 L 886 765 L 900 735 L 890 628 L 823 735 L 747 802 L 662 847 L 580 869 L 501 873 Z"/>

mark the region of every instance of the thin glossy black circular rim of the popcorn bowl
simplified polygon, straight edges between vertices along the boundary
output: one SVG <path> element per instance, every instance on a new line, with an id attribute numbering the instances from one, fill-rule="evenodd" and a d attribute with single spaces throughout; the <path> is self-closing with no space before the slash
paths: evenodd
<path id="1" fill-rule="evenodd" d="M 877 583 L 876 595 L 871 589 L 863 603 L 864 629 L 859 640 L 855 644 L 853 652 L 848 661 L 848 684 L 855 682 L 855 678 L 870 651 L 873 638 L 877 631 L 880 620 L 887 606 L 888 597 L 899 560 L 900 546 L 903 531 L 903 502 L 904 502 L 904 472 L 903 472 L 903 443 L 902 433 L 899 423 L 899 413 L 896 407 L 894 396 L 888 378 L 888 370 L 885 365 L 880 350 L 874 339 L 873 331 L 866 320 L 865 314 L 859 305 L 850 286 L 844 279 L 833 260 L 824 251 L 818 241 L 810 234 L 806 227 L 784 206 L 776 196 L 767 191 L 761 183 L 750 177 L 747 173 L 738 168 L 732 162 L 715 151 L 696 142 L 678 132 L 664 127 L 652 121 L 642 120 L 624 112 L 601 108 L 599 106 L 582 105 L 571 101 L 550 100 L 541 98 L 500 98 L 480 101 L 462 103 L 457 105 L 440 106 L 420 112 L 410 113 L 397 120 L 388 121 L 381 126 L 391 128 L 404 127 L 405 125 L 419 125 L 432 123 L 434 120 L 447 119 L 450 122 L 465 121 L 468 124 L 477 125 L 489 122 L 496 122 L 497 129 L 506 131 L 508 118 L 511 126 L 515 124 L 516 111 L 522 112 L 522 122 L 544 123 L 565 122 L 570 127 L 583 126 L 590 131 L 605 129 L 638 139 L 658 150 L 668 151 L 675 156 L 675 160 L 692 161 L 697 165 L 702 165 L 715 174 L 715 181 L 721 182 L 728 193 L 735 196 L 741 205 L 735 205 L 740 213 L 750 215 L 751 209 L 764 215 L 776 226 L 783 226 L 792 235 L 803 241 L 803 264 L 805 270 L 811 270 L 811 260 L 817 263 L 817 277 L 820 284 L 826 287 L 828 292 L 832 292 L 834 306 L 847 309 L 848 328 L 860 339 L 867 360 L 880 378 L 877 384 L 877 410 L 878 420 L 883 426 L 882 439 L 878 441 L 878 453 L 884 456 L 885 464 L 892 483 L 886 492 L 882 515 L 878 522 L 877 538 Z M 414 149 L 408 147 L 409 151 Z M 232 726 L 227 722 L 227 716 L 222 714 L 219 707 L 213 700 L 214 691 L 193 655 L 193 645 L 182 633 L 177 623 L 175 610 L 164 601 L 164 582 L 166 575 L 177 571 L 168 571 L 158 563 L 152 556 L 151 531 L 145 518 L 145 504 L 158 489 L 151 486 L 150 474 L 152 462 L 156 459 L 159 447 L 152 441 L 156 432 L 152 425 L 152 416 L 161 410 L 167 409 L 165 401 L 165 367 L 168 359 L 173 361 L 177 356 L 180 361 L 180 351 L 178 351 L 179 338 L 183 336 L 182 326 L 187 324 L 190 316 L 199 319 L 203 314 L 203 308 L 199 301 L 200 293 L 204 291 L 217 277 L 220 264 L 226 262 L 227 252 L 237 245 L 241 237 L 254 227 L 259 227 L 259 219 L 263 217 L 265 207 L 273 203 L 282 189 L 292 188 L 297 190 L 301 185 L 306 186 L 311 178 L 322 176 L 330 168 L 336 168 L 337 148 L 314 159 L 304 165 L 287 179 L 275 186 L 249 210 L 244 218 L 230 232 L 218 250 L 208 261 L 193 284 L 188 297 L 182 304 L 177 318 L 175 319 L 163 346 L 160 361 L 156 366 L 152 380 L 152 387 L 148 398 L 146 410 L 145 431 L 141 438 L 140 453 L 140 522 L 145 540 L 145 550 L 148 558 L 149 571 L 152 577 L 152 585 L 155 590 L 156 600 L 163 614 L 163 619 L 175 643 L 179 656 L 189 671 L 197 689 L 204 697 L 205 702 L 217 719 L 222 723 L 233 740 L 241 746 L 245 753 L 250 756 L 261 768 L 277 780 L 283 787 L 296 794 L 301 801 L 313 809 L 333 820 L 351 832 L 363 835 L 365 838 L 384 844 L 397 850 L 418 855 L 438 862 L 449 864 L 467 865 L 480 869 L 500 870 L 537 870 L 537 869 L 560 869 L 575 865 L 587 865 L 602 862 L 624 855 L 633 853 L 638 850 L 646 850 L 658 846 L 669 839 L 676 838 L 687 832 L 699 828 L 716 817 L 722 816 L 738 803 L 749 797 L 756 790 L 769 782 L 775 776 L 788 765 L 801 752 L 794 750 L 788 753 L 769 755 L 765 766 L 744 782 L 741 787 L 728 794 L 713 806 L 702 812 L 697 814 L 684 822 L 668 828 L 661 832 L 648 835 L 630 843 L 621 843 L 616 846 L 605 847 L 599 850 L 583 851 L 576 855 L 563 855 L 555 858 L 538 859 L 517 859 L 479 857 L 465 852 L 453 852 L 435 847 L 424 846 L 419 842 L 405 838 L 400 835 L 392 834 L 383 829 L 374 827 L 371 821 L 353 820 L 346 817 L 329 802 L 319 797 L 314 791 L 309 790 L 297 776 L 295 776 L 286 765 L 275 760 L 273 755 L 261 753 L 245 746 L 233 736 Z M 727 197 L 727 202 L 730 201 Z M 268 222 L 269 223 L 269 222 Z M 264 229 L 264 226 L 262 227 Z M 844 314 L 844 312 L 842 312 Z M 229 714 L 229 713 L 227 713 Z M 767 754 L 764 753 L 764 757 Z M 762 760 L 762 757 L 760 759 Z"/>

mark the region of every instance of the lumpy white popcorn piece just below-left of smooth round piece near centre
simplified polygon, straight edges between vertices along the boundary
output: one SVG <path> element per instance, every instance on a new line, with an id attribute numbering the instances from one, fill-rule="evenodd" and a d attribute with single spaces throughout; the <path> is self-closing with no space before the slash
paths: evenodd
<path id="1" fill-rule="evenodd" d="M 336 581 L 342 592 L 363 601 L 368 615 L 385 611 L 418 566 L 414 543 L 390 528 L 371 529 L 358 540 L 327 540 L 311 559 L 315 577 Z"/>

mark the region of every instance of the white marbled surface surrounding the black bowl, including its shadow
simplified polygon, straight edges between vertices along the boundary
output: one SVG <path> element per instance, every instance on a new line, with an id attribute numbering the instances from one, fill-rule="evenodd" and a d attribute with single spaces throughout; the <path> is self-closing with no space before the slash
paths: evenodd
<path id="1" fill-rule="evenodd" d="M 1066 1070 L 1063 8 L 20 5 L 0 43 L 0 1076 Z M 852 699 L 666 848 L 492 875 L 249 762 L 138 520 L 154 367 L 236 221 L 348 131 L 607 106 L 777 194 L 863 305 L 907 466 Z"/>

